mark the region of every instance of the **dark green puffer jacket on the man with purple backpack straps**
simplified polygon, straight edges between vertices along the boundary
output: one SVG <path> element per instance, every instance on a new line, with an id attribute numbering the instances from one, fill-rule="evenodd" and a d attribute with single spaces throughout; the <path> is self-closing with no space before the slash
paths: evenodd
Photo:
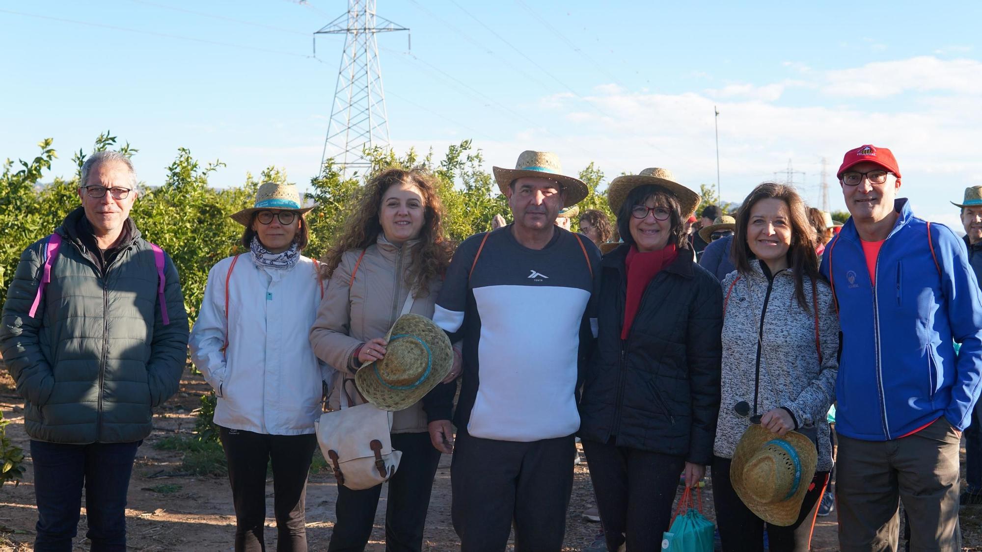
<path id="1" fill-rule="evenodd" d="M 130 239 L 103 275 L 76 233 L 84 216 L 80 207 L 55 230 L 63 241 L 36 318 L 28 312 L 47 239 L 21 255 L 3 306 L 0 346 L 25 398 L 32 439 L 138 441 L 152 429 L 151 408 L 177 391 L 188 356 L 181 283 L 165 255 L 165 326 L 149 244 L 128 220 Z"/>

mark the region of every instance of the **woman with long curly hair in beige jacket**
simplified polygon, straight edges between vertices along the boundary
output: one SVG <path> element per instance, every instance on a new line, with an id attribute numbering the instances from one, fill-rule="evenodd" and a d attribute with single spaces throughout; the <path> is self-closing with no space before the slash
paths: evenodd
<path id="1" fill-rule="evenodd" d="M 322 259 L 327 292 L 310 330 L 318 358 L 337 370 L 329 398 L 333 409 L 355 390 L 355 371 L 385 356 L 386 335 L 401 313 L 433 317 L 442 274 L 453 245 L 444 235 L 437 182 L 420 171 L 389 169 L 371 179 L 336 246 Z M 460 353 L 444 382 L 461 373 Z M 341 393 L 345 389 L 347 393 Z M 362 402 L 354 393 L 353 400 Z M 392 447 L 403 452 L 389 479 L 386 550 L 418 551 L 440 452 L 430 443 L 422 402 L 394 413 Z M 351 490 L 338 485 L 337 524 L 328 550 L 363 550 L 371 535 L 382 485 Z"/>

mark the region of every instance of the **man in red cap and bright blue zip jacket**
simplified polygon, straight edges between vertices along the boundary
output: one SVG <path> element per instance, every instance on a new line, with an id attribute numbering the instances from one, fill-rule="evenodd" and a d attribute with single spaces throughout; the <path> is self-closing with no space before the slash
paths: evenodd
<path id="1" fill-rule="evenodd" d="M 846 152 L 837 176 L 852 216 L 822 273 L 843 330 L 840 547 L 896 550 L 902 499 L 911 549 L 957 551 L 958 444 L 979 396 L 982 294 L 961 240 L 896 197 L 889 149 Z"/>

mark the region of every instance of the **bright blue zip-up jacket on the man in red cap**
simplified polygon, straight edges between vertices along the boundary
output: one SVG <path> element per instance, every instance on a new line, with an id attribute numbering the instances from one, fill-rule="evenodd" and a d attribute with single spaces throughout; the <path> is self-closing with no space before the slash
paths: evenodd
<path id="1" fill-rule="evenodd" d="M 865 441 L 902 437 L 942 415 L 963 430 L 982 383 L 982 293 L 964 243 L 932 223 L 929 244 L 906 198 L 895 208 L 875 289 L 851 218 L 822 258 L 843 330 L 836 430 Z"/>

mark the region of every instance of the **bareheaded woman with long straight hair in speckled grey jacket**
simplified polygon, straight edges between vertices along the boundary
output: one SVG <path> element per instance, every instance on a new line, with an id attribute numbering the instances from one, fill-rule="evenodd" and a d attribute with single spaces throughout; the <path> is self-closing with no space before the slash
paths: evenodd
<path id="1" fill-rule="evenodd" d="M 804 204 L 790 187 L 765 183 L 751 192 L 736 214 L 733 243 L 736 271 L 723 281 L 722 400 L 713 446 L 720 536 L 725 551 L 762 549 L 765 523 L 730 483 L 736 443 L 749 417 L 760 415 L 776 435 L 796 430 L 817 444 L 818 466 L 797 522 L 766 526 L 770 550 L 794 550 L 795 529 L 807 524 L 802 531 L 810 533 L 812 507 L 833 465 L 826 414 L 835 400 L 839 319 L 818 272 Z M 740 402 L 749 416 L 736 414 Z"/>

